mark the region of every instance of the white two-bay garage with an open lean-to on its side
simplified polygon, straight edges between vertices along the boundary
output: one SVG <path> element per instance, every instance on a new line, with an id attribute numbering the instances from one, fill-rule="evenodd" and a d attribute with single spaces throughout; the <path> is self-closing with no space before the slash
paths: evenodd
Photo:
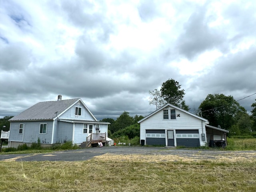
<path id="1" fill-rule="evenodd" d="M 207 119 L 172 104 L 162 106 L 138 123 L 142 145 L 209 146 L 214 140 L 226 141 L 228 132 L 208 126 Z"/>

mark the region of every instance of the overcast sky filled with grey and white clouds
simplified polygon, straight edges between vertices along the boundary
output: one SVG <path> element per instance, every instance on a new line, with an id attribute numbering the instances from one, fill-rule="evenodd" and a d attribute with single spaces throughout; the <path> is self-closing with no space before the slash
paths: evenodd
<path id="1" fill-rule="evenodd" d="M 0 118 L 59 94 L 98 120 L 146 116 L 170 78 L 191 112 L 208 94 L 256 93 L 256 2 L 0 0 Z"/>

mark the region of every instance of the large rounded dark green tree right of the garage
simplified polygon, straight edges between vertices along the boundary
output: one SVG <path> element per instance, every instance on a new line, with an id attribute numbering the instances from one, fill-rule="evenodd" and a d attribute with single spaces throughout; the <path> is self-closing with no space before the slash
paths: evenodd
<path id="1" fill-rule="evenodd" d="M 208 94 L 199 108 L 202 117 L 208 119 L 210 125 L 220 125 L 221 128 L 228 130 L 236 124 L 236 115 L 246 114 L 245 108 L 240 106 L 233 96 L 225 96 L 224 94 Z"/>

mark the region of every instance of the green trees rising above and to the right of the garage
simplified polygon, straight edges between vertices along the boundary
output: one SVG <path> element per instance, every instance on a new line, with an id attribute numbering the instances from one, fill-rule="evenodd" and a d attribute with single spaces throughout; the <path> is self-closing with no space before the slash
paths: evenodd
<path id="1" fill-rule="evenodd" d="M 184 110 L 190 110 L 183 100 L 184 89 L 181 89 L 179 82 L 174 79 L 168 79 L 162 84 L 160 90 L 149 91 L 149 94 L 149 104 L 155 105 L 156 109 L 170 103 Z M 208 119 L 212 126 L 229 130 L 229 136 L 256 136 L 256 102 L 251 107 L 252 114 L 249 115 L 233 96 L 208 94 L 199 108 L 194 109 L 194 114 Z"/>

